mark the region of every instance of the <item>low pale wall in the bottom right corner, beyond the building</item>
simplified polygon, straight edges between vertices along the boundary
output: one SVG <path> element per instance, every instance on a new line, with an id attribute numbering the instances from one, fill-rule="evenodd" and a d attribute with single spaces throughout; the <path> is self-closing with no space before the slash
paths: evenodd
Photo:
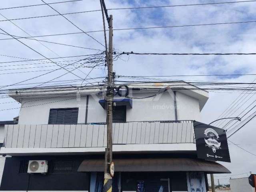
<path id="1" fill-rule="evenodd" d="M 254 192 L 249 184 L 248 178 L 230 179 L 230 188 L 232 192 Z"/>

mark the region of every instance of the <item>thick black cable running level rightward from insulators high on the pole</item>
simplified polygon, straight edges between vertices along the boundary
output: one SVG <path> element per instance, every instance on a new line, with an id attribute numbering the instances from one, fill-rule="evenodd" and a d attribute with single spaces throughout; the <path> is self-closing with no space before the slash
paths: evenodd
<path id="1" fill-rule="evenodd" d="M 136 53 L 136 52 L 122 52 L 121 54 L 126 54 L 126 55 L 129 55 L 129 54 L 134 54 L 134 55 L 256 55 L 256 53 Z"/>

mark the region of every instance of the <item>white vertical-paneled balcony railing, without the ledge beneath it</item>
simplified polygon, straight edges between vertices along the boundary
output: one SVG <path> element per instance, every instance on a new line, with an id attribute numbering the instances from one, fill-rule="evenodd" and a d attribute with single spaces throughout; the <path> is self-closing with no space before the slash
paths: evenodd
<path id="1" fill-rule="evenodd" d="M 5 148 L 106 147 L 106 124 L 6 125 Z M 113 124 L 113 144 L 194 143 L 192 121 Z"/>

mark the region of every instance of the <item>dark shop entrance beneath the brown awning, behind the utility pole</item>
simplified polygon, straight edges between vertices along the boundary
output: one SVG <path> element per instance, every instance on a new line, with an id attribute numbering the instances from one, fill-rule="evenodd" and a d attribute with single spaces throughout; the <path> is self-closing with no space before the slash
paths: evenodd
<path id="1" fill-rule="evenodd" d="M 186 172 L 115 172 L 112 192 L 187 191 Z M 90 192 L 102 192 L 103 173 L 91 174 Z"/>

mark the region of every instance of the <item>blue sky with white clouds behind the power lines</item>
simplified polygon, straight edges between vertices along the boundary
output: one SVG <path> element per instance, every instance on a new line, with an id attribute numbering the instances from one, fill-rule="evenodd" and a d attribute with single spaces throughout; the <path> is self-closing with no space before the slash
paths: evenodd
<path id="1" fill-rule="evenodd" d="M 47 0 L 46 2 L 57 2 L 58 0 Z M 224 2 L 225 0 L 105 0 L 107 8 L 126 8 L 134 6 L 166 6 L 180 4 L 197 4 L 208 2 Z M 89 2 L 89 3 L 88 3 Z M 21 1 L 8 0 L 3 1 L 2 7 L 23 6 L 26 4 L 41 4 L 40 0 Z M 83 0 L 75 3 L 52 5 L 61 13 L 79 12 L 84 10 L 98 10 L 100 4 L 98 0 Z M 114 29 L 133 28 L 146 26 L 177 26 L 187 24 L 208 24 L 218 22 L 241 22 L 251 21 L 256 18 L 256 2 L 244 2 L 221 5 L 205 6 L 180 6 L 170 8 L 154 8 L 143 10 L 109 10 L 113 14 Z M 0 10 L 5 17 L 23 18 L 31 16 L 42 16 L 47 14 L 56 14 L 47 6 L 35 6 L 22 9 Z M 83 14 L 67 15 L 84 31 L 102 30 L 101 12 L 90 12 Z M 0 20 L 4 20 L 1 18 Z M 66 32 L 79 32 L 77 28 L 68 23 L 60 16 L 34 18 L 26 20 L 14 20 L 16 25 L 31 34 L 47 35 Z M 17 36 L 28 36 L 14 24 L 5 21 L 0 22 L 0 28 L 10 34 Z M 102 32 L 90 33 L 100 42 L 104 42 Z M 6 38 L 6 35 L 0 35 L 0 38 Z M 54 41 L 76 46 L 85 46 L 103 50 L 104 47 L 86 36 L 85 34 L 41 37 L 40 40 Z M 49 49 L 33 40 L 24 40 L 22 42 L 35 48 L 47 57 L 71 56 L 92 54 L 95 51 L 89 51 L 81 48 L 71 48 L 54 44 L 44 43 Z M 175 53 L 204 53 L 204 52 L 256 52 L 256 23 L 247 24 L 229 24 L 214 26 L 195 26 L 180 28 L 163 28 L 148 30 L 122 30 L 114 31 L 114 48 L 117 51 L 134 52 L 175 52 Z M 22 58 L 42 58 L 37 53 L 26 48 L 15 40 L 2 40 L 0 43 L 2 55 L 16 56 Z M 51 51 L 52 50 L 52 51 Z M 124 60 L 114 62 L 114 70 L 117 75 L 191 75 L 191 74 L 237 74 L 237 73 L 256 73 L 256 56 L 122 56 Z M 0 62 L 16 60 L 6 56 L 0 56 Z M 60 60 L 59 60 L 60 61 Z M 32 62 L 31 62 L 32 63 Z M 31 65 L 37 66 L 37 65 Z M 13 67 L 5 67 L 10 69 Z M 48 69 L 55 69 L 49 67 Z M 35 68 L 37 69 L 37 68 Z M 84 73 L 90 69 L 81 69 Z M 18 72 L 18 70 L 13 70 Z M 1 72 L 2 73 L 2 72 Z M 44 72 L 33 72 L 24 74 L 0 75 L 1 85 L 12 84 Z M 42 76 L 32 82 L 43 82 L 64 74 L 64 70 L 58 70 L 50 75 Z M 84 75 L 80 71 L 76 74 Z M 105 70 L 95 69 L 90 77 L 104 76 Z M 74 79 L 72 74 L 64 76 L 63 79 Z M 232 81 L 232 82 L 252 82 L 254 76 L 227 76 L 227 77 L 187 77 L 182 80 L 200 80 L 200 81 Z M 177 78 L 175 78 L 177 79 Z M 30 81 L 31 82 L 31 81 Z M 228 107 L 228 105 L 239 95 L 239 93 L 217 93 L 210 92 L 210 99 L 202 110 L 202 121 L 211 122 Z M 254 100 L 252 96 L 250 101 Z M 2 102 L 12 102 L 10 99 L 1 99 Z M 1 109 L 18 107 L 17 103 L 1 104 Z M 242 110 L 242 108 L 240 109 Z M 19 110 L 0 111 L 0 120 L 11 120 L 18 115 Z M 239 110 L 238 110 L 239 113 Z M 239 134 L 232 138 L 232 141 L 244 144 L 252 152 L 256 153 L 254 144 L 256 131 L 252 121 Z M 243 152 L 235 146 L 230 146 L 231 164 L 225 164 L 232 169 L 234 174 L 249 171 L 256 172 L 255 157 Z M 251 161 L 244 165 L 243 159 Z M 241 166 L 242 165 L 242 166 Z"/>

